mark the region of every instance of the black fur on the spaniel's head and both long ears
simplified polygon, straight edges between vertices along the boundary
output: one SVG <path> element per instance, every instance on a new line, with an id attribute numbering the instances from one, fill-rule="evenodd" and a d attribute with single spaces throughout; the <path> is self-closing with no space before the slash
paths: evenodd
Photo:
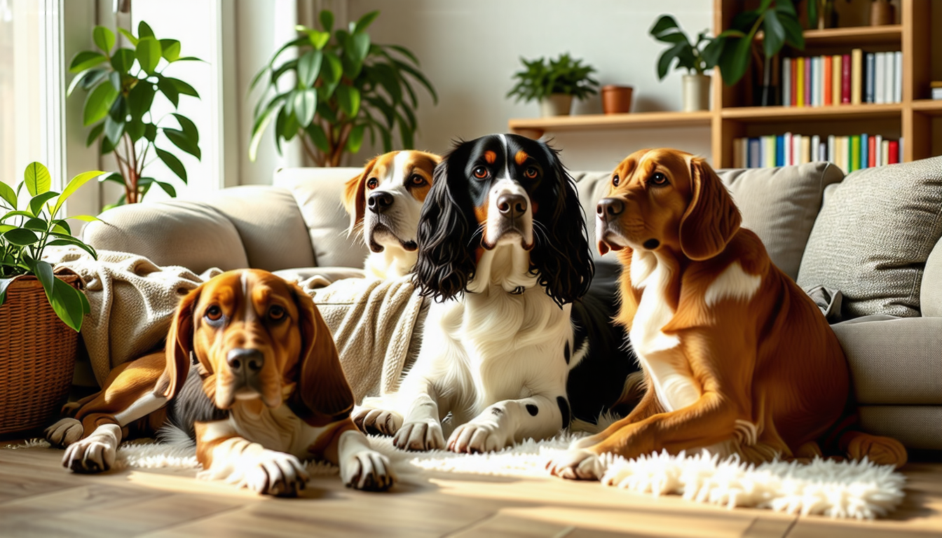
<path id="1" fill-rule="evenodd" d="M 542 173 L 537 181 L 522 179 L 523 171 L 514 161 L 518 151 L 526 152 L 539 164 Z M 556 150 L 544 142 L 517 135 L 459 141 L 435 169 L 435 181 L 419 220 L 415 284 L 423 295 L 446 301 L 463 294 L 473 278 L 482 237 L 475 205 L 487 186 L 482 186 L 472 171 L 485 152 L 496 155 L 495 162 L 490 164 L 520 182 L 537 208 L 533 215 L 530 270 L 538 275 L 546 294 L 560 306 L 577 301 L 589 289 L 594 266 L 576 183 L 562 166 Z M 503 175 L 506 174 L 497 173 L 493 180 Z"/>

